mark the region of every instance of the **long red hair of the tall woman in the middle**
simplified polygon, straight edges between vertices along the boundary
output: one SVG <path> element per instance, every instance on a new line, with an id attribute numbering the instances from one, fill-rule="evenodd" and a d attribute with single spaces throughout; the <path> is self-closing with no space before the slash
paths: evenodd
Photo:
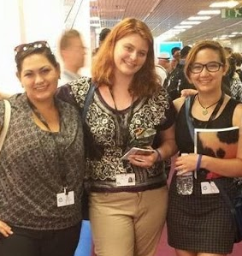
<path id="1" fill-rule="evenodd" d="M 115 80 L 115 44 L 118 40 L 132 33 L 138 33 L 142 39 L 145 39 L 149 50 L 143 67 L 134 74 L 129 89 L 130 92 L 133 92 L 138 97 L 151 96 L 153 92 L 156 92 L 158 86 L 161 86 L 155 69 L 153 37 L 150 28 L 147 27 L 145 22 L 134 18 L 126 18 L 119 22 L 104 40 L 103 45 L 101 45 L 93 59 L 91 68 L 92 81 L 97 86 L 112 86 Z"/>

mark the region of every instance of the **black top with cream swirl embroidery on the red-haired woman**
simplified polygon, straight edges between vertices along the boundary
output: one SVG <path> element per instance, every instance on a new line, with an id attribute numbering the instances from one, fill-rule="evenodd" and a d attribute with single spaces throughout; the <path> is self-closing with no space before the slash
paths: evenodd
<path id="1" fill-rule="evenodd" d="M 80 110 L 83 110 L 90 86 L 91 79 L 82 77 L 62 86 L 58 97 L 77 103 Z M 125 131 L 121 128 L 120 120 L 127 123 Z M 135 141 L 134 131 L 137 128 L 154 128 L 158 133 L 173 123 L 174 106 L 162 87 L 151 98 L 137 100 L 127 110 L 112 109 L 97 89 L 91 99 L 85 125 L 91 191 L 134 192 L 166 185 L 161 163 L 144 169 L 121 160 L 121 156 L 132 146 L 131 141 Z M 127 143 L 123 142 L 124 133 L 127 133 Z M 117 187 L 116 175 L 127 173 L 135 174 L 135 185 Z"/>

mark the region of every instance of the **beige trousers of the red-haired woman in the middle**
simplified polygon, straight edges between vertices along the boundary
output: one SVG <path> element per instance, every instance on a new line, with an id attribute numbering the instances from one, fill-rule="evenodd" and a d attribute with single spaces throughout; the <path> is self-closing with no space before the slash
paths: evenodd
<path id="1" fill-rule="evenodd" d="M 91 193 L 91 231 L 97 256 L 153 256 L 167 205 L 167 187 L 138 193 Z"/>

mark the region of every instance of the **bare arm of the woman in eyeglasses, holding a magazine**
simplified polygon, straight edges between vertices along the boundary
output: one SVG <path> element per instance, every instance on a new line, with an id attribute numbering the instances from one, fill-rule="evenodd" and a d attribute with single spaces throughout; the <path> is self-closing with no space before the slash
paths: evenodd
<path id="1" fill-rule="evenodd" d="M 221 176 L 242 176 L 242 104 L 237 105 L 233 113 L 233 126 L 239 126 L 239 141 L 236 158 L 221 159 L 204 156 L 201 159 L 200 168 L 210 170 Z M 175 169 L 182 170 L 181 175 L 188 171 L 194 171 L 198 162 L 198 154 L 189 154 L 176 159 Z"/>

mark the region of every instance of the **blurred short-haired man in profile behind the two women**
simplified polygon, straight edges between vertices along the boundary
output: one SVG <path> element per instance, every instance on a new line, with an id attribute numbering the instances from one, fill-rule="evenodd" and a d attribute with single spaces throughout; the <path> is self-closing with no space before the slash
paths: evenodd
<path id="1" fill-rule="evenodd" d="M 71 80 L 80 78 L 80 68 L 85 64 L 86 47 L 80 33 L 75 29 L 70 29 L 62 33 L 59 50 L 63 62 L 59 81 L 59 86 L 62 86 Z"/>

